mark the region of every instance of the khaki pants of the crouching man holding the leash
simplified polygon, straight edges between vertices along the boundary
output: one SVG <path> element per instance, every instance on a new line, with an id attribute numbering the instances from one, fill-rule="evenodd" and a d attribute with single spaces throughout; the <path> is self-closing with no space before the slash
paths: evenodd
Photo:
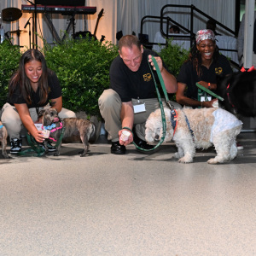
<path id="1" fill-rule="evenodd" d="M 134 114 L 134 125 L 137 136 L 145 140 L 145 123 L 150 113 L 160 108 L 158 99 L 143 99 L 145 102 L 146 112 Z M 133 99 L 132 102 L 137 102 Z M 163 106 L 166 107 L 165 100 L 162 99 Z M 122 102 L 119 95 L 112 89 L 104 90 L 99 98 L 99 108 L 102 118 L 105 120 L 105 129 L 108 131 L 108 139 L 112 142 L 119 141 L 119 131 L 122 129 L 120 119 Z M 174 108 L 181 108 L 177 102 L 171 102 Z"/>

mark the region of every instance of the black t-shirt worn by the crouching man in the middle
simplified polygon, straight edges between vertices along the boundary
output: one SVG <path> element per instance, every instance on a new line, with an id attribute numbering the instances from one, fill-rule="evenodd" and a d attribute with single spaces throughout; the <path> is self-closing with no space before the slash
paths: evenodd
<path id="1" fill-rule="evenodd" d="M 131 102 L 131 99 L 154 98 L 154 79 L 148 66 L 148 55 L 158 56 L 150 49 L 143 50 L 143 60 L 137 72 L 132 72 L 120 56 L 117 56 L 110 67 L 110 88 L 115 90 L 122 102 Z M 166 68 L 165 64 L 164 67 Z M 153 68 L 152 68 L 153 70 Z M 154 71 L 156 83 L 160 83 L 157 73 Z"/>

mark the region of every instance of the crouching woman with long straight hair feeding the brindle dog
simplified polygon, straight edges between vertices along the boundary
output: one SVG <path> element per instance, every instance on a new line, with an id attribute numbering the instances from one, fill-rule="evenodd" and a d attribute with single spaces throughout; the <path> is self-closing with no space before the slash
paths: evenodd
<path id="1" fill-rule="evenodd" d="M 22 124 L 38 143 L 44 142 L 42 131 L 38 131 L 34 125 L 38 112 L 43 108 L 56 108 L 61 118 L 76 117 L 73 111 L 62 108 L 59 80 L 47 68 L 44 55 L 38 49 L 29 49 L 21 56 L 18 71 L 9 81 L 8 102 L 2 110 L 2 122 L 9 134 L 11 154 L 21 151 Z M 49 149 L 55 150 L 53 147 Z"/>

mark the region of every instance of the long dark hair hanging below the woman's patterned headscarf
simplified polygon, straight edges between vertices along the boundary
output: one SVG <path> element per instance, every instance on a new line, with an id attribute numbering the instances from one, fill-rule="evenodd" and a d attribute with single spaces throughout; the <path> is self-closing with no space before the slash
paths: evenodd
<path id="1" fill-rule="evenodd" d="M 219 56 L 218 45 L 215 44 L 214 53 L 212 55 L 212 61 L 217 62 L 218 61 L 218 56 Z M 193 68 L 195 69 L 195 71 L 197 73 L 197 76 L 201 77 L 201 75 L 202 75 L 202 70 L 201 70 L 201 53 L 196 48 L 196 44 L 195 43 L 192 45 L 192 47 L 191 47 L 191 49 L 189 51 L 189 59 L 187 61 L 191 61 L 192 62 Z"/>

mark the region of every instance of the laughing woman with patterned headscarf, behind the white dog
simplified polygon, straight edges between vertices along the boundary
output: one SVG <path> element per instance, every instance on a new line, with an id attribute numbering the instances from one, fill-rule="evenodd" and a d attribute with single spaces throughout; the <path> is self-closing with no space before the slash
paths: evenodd
<path id="1" fill-rule="evenodd" d="M 212 30 L 198 31 L 195 44 L 190 49 L 189 59 L 183 63 L 177 76 L 177 102 L 193 108 L 212 108 L 217 99 L 208 102 L 199 99 L 196 83 L 214 91 L 217 89 L 217 76 L 230 73 L 230 61 L 219 54 Z"/>

